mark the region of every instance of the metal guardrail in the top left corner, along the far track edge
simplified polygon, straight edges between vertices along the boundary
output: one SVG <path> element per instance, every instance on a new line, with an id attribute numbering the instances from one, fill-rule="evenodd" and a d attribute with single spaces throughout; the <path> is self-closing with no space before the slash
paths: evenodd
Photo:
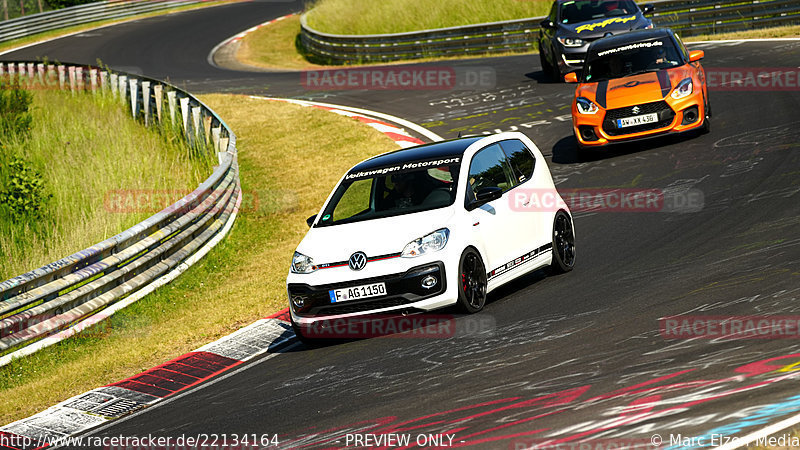
<path id="1" fill-rule="evenodd" d="M 31 36 L 46 31 L 125 17 L 176 6 L 199 3 L 200 0 L 110 0 L 70 6 L 55 11 L 31 14 L 0 22 L 0 42 Z"/>

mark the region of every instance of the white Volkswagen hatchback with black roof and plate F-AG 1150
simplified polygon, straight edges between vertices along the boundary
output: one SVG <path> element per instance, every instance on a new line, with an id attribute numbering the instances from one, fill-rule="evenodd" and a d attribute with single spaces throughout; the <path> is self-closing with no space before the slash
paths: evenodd
<path id="1" fill-rule="evenodd" d="M 367 159 L 308 224 L 286 280 L 303 340 L 331 319 L 453 304 L 477 312 L 498 286 L 545 266 L 566 272 L 575 262 L 570 211 L 522 133 Z"/>

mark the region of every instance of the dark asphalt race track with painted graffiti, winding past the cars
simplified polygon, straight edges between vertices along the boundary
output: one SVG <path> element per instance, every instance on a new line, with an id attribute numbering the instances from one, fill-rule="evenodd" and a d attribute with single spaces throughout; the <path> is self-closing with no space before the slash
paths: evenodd
<path id="1" fill-rule="evenodd" d="M 88 31 L 0 59 L 99 58 L 194 93 L 370 108 L 446 138 L 519 130 L 545 153 L 559 189 L 654 188 L 680 204 L 576 213 L 575 270 L 526 276 L 493 293 L 479 315 L 458 318 L 459 329 L 481 332 L 298 345 L 96 433 L 277 433 L 286 448 L 344 446 L 352 443 L 348 432 L 376 430 L 410 433 L 412 443 L 449 433 L 453 446 L 476 448 L 647 443 L 654 433 L 668 444 L 671 435 L 712 430 L 740 436 L 800 411 L 797 339 L 671 340 L 659 320 L 800 315 L 797 87 L 715 89 L 710 134 L 579 158 L 567 118 L 574 87 L 544 81 L 536 55 L 423 65 L 495 74 L 491 85 L 452 90 L 312 91 L 299 73 L 207 63 L 225 38 L 299 9 L 298 2 L 237 3 Z M 800 41 L 692 48 L 705 51 L 707 70 L 800 67 Z"/>

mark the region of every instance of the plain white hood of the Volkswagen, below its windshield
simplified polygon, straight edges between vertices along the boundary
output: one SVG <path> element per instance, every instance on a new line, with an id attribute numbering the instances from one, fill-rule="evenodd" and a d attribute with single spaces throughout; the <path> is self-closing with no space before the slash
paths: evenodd
<path id="1" fill-rule="evenodd" d="M 400 253 L 414 239 L 448 226 L 453 207 L 382 219 L 314 227 L 297 247 L 315 264 L 344 262 L 355 252 L 368 258 Z"/>

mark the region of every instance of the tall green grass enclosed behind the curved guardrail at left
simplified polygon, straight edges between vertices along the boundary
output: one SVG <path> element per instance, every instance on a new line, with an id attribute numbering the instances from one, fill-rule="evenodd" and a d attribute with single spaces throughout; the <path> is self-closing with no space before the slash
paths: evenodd
<path id="1" fill-rule="evenodd" d="M 107 207 L 114 191 L 171 191 L 177 200 L 212 172 L 211 154 L 190 156 L 178 135 L 132 120 L 129 107 L 110 93 L 33 94 L 30 136 L 0 139 L 0 164 L 7 173 L 12 159 L 26 161 L 52 197 L 38 218 L 0 208 L 0 279 L 96 244 L 155 212 Z"/>

